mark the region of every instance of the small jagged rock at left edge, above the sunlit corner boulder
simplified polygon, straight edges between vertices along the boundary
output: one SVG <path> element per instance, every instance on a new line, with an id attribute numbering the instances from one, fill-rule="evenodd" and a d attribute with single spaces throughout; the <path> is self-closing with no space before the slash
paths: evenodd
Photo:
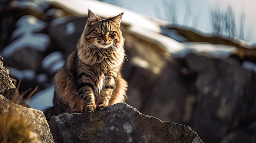
<path id="1" fill-rule="evenodd" d="M 4 58 L 0 56 L 0 94 L 22 106 L 29 107 L 20 97 L 20 93 L 13 85 L 12 80 L 9 77 L 9 71 L 3 66 Z"/>

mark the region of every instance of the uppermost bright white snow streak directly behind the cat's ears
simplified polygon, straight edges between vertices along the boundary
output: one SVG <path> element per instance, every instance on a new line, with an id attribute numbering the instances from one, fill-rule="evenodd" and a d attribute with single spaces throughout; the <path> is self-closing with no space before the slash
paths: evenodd
<path id="1" fill-rule="evenodd" d="M 96 15 L 101 17 L 112 17 L 124 12 L 122 23 L 127 25 L 137 25 L 147 28 L 151 31 L 160 32 L 160 27 L 154 20 L 142 16 L 138 13 L 129 11 L 127 9 L 117 7 L 112 4 L 99 2 L 96 0 L 45 0 L 54 4 L 58 4 L 60 7 L 65 7 L 70 13 L 74 13 L 78 16 L 88 15 L 88 9 L 90 9 Z M 99 8 L 100 7 L 100 8 Z M 146 23 L 146 25 L 145 25 Z"/>

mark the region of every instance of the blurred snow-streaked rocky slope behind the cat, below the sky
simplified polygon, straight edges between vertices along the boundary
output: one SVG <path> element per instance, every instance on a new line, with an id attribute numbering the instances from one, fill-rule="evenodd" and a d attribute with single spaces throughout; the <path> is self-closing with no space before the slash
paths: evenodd
<path id="1" fill-rule="evenodd" d="M 121 30 L 130 58 L 123 68 L 129 105 L 162 121 L 188 125 L 207 143 L 256 141 L 254 49 L 239 41 L 170 28 L 95 0 L 6 0 L 4 5 L 0 55 L 10 75 L 22 79 L 20 91 L 38 86 L 30 105 L 36 97 L 45 99 L 40 91 L 48 89 L 76 46 L 87 8 L 103 17 L 112 13 L 101 10 L 111 8 L 115 14 L 125 11 Z"/>

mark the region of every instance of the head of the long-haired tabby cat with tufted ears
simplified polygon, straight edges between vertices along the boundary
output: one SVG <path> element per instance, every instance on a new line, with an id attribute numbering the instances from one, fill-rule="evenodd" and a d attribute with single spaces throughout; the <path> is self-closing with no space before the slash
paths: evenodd
<path id="1" fill-rule="evenodd" d="M 124 44 L 119 29 L 122 16 L 123 13 L 111 18 L 101 18 L 88 9 L 88 21 L 83 32 L 85 40 L 97 48 L 118 47 Z"/>

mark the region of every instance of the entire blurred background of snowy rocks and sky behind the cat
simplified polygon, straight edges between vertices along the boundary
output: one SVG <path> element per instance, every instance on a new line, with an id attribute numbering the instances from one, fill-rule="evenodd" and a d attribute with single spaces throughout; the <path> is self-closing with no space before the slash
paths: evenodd
<path id="1" fill-rule="evenodd" d="M 52 78 L 88 8 L 124 12 L 127 103 L 190 126 L 205 143 L 256 142 L 254 0 L 0 0 L 0 56 L 28 103 L 52 106 Z"/>

